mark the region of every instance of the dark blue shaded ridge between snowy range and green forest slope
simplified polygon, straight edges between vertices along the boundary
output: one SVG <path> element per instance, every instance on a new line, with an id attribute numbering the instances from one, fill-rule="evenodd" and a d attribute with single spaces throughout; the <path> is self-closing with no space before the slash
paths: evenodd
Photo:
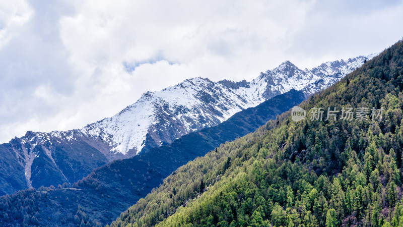
<path id="1" fill-rule="evenodd" d="M 176 168 L 205 155 L 226 141 L 255 131 L 304 100 L 291 90 L 256 107 L 236 113 L 226 122 L 190 133 L 170 145 L 116 160 L 94 169 L 70 185 L 21 190 L 0 197 L 3 225 L 105 225 L 158 187 Z"/>

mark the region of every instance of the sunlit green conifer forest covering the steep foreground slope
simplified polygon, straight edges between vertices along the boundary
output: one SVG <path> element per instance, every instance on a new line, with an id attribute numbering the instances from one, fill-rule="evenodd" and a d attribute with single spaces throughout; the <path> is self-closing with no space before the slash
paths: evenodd
<path id="1" fill-rule="evenodd" d="M 403 42 L 300 106 L 323 120 L 285 112 L 181 166 L 111 226 L 403 226 Z M 325 120 L 327 107 L 384 110 Z"/>

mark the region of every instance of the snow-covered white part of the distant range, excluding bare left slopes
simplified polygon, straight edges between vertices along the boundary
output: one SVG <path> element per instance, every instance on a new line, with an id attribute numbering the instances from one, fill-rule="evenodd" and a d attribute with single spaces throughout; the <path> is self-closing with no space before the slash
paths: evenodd
<path id="1" fill-rule="evenodd" d="M 147 92 L 117 115 L 90 124 L 81 132 L 105 143 L 112 157 L 133 156 L 144 148 L 216 126 L 234 113 L 292 88 L 312 94 L 339 81 L 375 55 L 327 62 L 311 70 L 300 70 L 286 61 L 251 82 L 188 79 L 161 91 Z"/>

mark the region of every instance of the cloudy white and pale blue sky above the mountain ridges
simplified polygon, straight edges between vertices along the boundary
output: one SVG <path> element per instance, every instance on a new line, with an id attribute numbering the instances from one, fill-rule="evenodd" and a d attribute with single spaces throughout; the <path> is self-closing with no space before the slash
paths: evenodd
<path id="1" fill-rule="evenodd" d="M 0 143 L 81 128 L 186 78 L 379 52 L 402 1 L 1 1 Z"/>

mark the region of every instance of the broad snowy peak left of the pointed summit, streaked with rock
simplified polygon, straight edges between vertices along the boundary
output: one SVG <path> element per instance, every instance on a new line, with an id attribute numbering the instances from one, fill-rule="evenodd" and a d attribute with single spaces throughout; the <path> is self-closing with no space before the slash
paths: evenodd
<path id="1" fill-rule="evenodd" d="M 137 154 L 147 145 L 160 146 L 189 132 L 215 126 L 235 112 L 258 104 L 231 94 L 207 78 L 187 79 L 157 92 L 147 92 L 117 115 L 83 128 L 112 152 Z M 233 102 L 227 103 L 228 100 Z"/>

